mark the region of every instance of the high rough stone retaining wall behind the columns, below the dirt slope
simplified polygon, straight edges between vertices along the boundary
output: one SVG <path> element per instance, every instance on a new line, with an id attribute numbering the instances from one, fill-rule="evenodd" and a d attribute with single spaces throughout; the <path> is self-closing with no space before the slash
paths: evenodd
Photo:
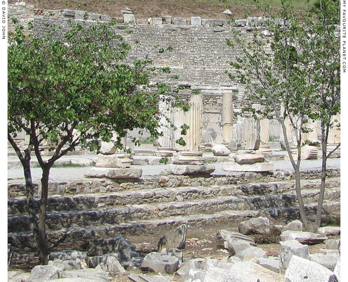
<path id="1" fill-rule="evenodd" d="M 135 15 L 136 16 L 136 15 Z M 40 10 L 24 2 L 9 5 L 9 18 L 15 17 L 26 27 L 28 21 L 34 22 L 34 34 L 41 36 L 46 27 L 44 22 L 65 26 L 66 21 L 75 19 L 88 24 L 95 24 L 95 20 L 108 22 L 112 18 L 77 10 Z M 124 19 L 114 19 L 123 23 Z M 125 16 L 125 21 L 126 21 Z M 245 97 L 245 89 L 233 85 L 225 72 L 233 72 L 229 61 L 234 59 L 238 50 L 228 47 L 226 38 L 231 38 L 231 23 L 223 19 L 191 19 L 172 18 L 162 16 L 155 19 L 136 19 L 137 24 L 130 24 L 132 30 L 128 34 L 125 30 L 115 27 L 133 47 L 129 59 L 144 58 L 145 55 L 156 57 L 158 48 L 172 47 L 172 52 L 163 53 L 154 64 L 169 66 L 170 74 L 163 74 L 153 78 L 153 82 L 165 82 L 170 85 L 186 87 L 183 95 L 189 95 L 191 90 L 200 90 L 203 94 L 203 113 L 201 119 L 202 143 L 219 144 L 222 142 L 222 93 L 234 91 L 234 112 L 240 112 L 244 106 L 250 106 L 252 101 Z M 255 26 L 262 28 L 262 18 L 248 18 L 236 21 L 237 28 L 242 32 L 246 42 L 251 40 L 251 32 Z M 15 25 L 9 21 L 9 29 Z M 136 44 L 139 42 L 139 44 Z M 137 46 L 136 46 L 137 45 Z M 178 80 L 173 76 L 179 75 Z M 238 89 L 238 90 L 237 90 Z M 234 123 L 236 120 L 234 120 Z M 276 135 L 276 134 L 274 134 Z M 136 136 L 138 137 L 138 136 Z"/>

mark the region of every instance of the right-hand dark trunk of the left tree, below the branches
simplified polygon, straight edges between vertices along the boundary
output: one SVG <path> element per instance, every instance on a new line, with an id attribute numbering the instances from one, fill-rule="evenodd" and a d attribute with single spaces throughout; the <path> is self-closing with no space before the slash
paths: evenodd
<path id="1" fill-rule="evenodd" d="M 48 264 L 48 250 L 46 244 L 46 209 L 48 197 L 48 176 L 50 168 L 43 168 L 41 178 L 41 202 L 39 215 L 39 260 L 41 264 Z"/>

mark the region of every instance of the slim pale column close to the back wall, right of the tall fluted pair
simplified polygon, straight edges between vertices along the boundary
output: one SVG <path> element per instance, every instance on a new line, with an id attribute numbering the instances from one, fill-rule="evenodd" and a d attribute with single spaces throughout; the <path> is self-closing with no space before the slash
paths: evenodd
<path id="1" fill-rule="evenodd" d="M 229 144 L 233 138 L 233 92 L 222 94 L 222 140 Z"/>

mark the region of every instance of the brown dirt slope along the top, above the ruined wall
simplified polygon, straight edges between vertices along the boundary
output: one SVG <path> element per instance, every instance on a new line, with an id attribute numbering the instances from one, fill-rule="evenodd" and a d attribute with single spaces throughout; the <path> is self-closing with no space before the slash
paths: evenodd
<path id="1" fill-rule="evenodd" d="M 9 3 L 16 3 L 11 0 Z M 38 9 L 72 9 L 83 10 L 90 13 L 104 14 L 115 18 L 122 18 L 121 10 L 130 8 L 137 19 L 160 17 L 170 15 L 172 17 L 191 18 L 200 16 L 203 19 L 224 18 L 222 12 L 228 8 L 235 19 L 245 19 L 246 12 L 253 16 L 260 16 L 255 6 L 231 5 L 225 3 L 199 1 L 199 0 L 27 0 L 27 4 L 35 5 Z"/>

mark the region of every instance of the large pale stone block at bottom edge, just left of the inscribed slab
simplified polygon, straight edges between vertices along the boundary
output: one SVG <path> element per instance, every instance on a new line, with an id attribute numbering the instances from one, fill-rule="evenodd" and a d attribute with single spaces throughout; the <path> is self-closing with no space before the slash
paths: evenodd
<path id="1" fill-rule="evenodd" d="M 251 261 L 241 261 L 231 264 L 230 269 L 210 267 L 203 282 L 280 282 L 284 276 L 275 273 Z"/>

